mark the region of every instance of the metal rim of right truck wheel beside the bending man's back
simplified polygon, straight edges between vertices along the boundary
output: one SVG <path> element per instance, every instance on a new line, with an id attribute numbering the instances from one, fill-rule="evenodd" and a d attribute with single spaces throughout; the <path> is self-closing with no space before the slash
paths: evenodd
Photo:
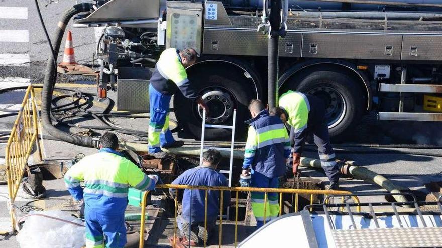
<path id="1" fill-rule="evenodd" d="M 344 119 L 347 103 L 339 91 L 330 87 L 317 87 L 308 91 L 308 94 L 315 95 L 324 101 L 328 128 L 337 126 Z"/>

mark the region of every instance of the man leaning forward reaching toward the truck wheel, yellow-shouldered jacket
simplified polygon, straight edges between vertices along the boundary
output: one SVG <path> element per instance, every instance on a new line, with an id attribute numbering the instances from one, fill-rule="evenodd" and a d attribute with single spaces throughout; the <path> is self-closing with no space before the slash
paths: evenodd
<path id="1" fill-rule="evenodd" d="M 169 48 L 161 53 L 155 65 L 149 84 L 149 154 L 156 158 L 167 155 L 163 148 L 180 147 L 183 141 L 175 141 L 169 130 L 169 103 L 178 88 L 188 99 L 195 100 L 201 108 L 208 112 L 207 105 L 202 100 L 195 86 L 187 78 L 185 68 L 196 62 L 197 53 L 188 48 L 179 51 Z"/>

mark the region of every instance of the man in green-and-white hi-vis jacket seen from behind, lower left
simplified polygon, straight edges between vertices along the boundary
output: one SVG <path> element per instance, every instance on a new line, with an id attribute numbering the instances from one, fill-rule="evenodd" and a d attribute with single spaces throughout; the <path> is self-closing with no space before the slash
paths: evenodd
<path id="1" fill-rule="evenodd" d="M 99 147 L 98 153 L 74 164 L 66 172 L 64 180 L 75 200 L 84 198 L 86 247 L 124 247 L 128 189 L 152 190 L 158 176 L 147 176 L 117 152 L 118 138 L 113 133 L 104 133 Z M 84 181 L 84 189 L 80 186 L 81 181 Z"/>

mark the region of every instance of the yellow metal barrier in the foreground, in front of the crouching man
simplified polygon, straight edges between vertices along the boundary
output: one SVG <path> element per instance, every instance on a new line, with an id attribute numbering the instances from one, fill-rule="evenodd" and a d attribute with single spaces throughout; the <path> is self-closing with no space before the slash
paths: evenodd
<path id="1" fill-rule="evenodd" d="M 208 198 L 208 190 L 217 190 L 219 192 L 220 196 L 220 206 L 219 206 L 219 247 L 222 245 L 222 225 L 223 225 L 223 192 L 224 191 L 230 191 L 230 192 L 236 192 L 235 198 L 235 241 L 234 245 L 237 247 L 237 234 L 238 234 L 238 199 L 239 199 L 239 192 L 261 192 L 264 193 L 264 202 L 267 201 L 267 194 L 268 193 L 278 193 L 279 195 L 279 216 L 281 216 L 282 213 L 282 199 L 283 194 L 295 194 L 295 205 L 294 212 L 298 211 L 298 196 L 299 194 L 307 194 L 310 195 L 310 205 L 313 204 L 313 196 L 314 195 L 332 195 L 332 194 L 339 194 L 339 195 L 347 195 L 352 194 L 349 191 L 341 191 L 341 190 L 312 190 L 312 189 L 286 189 L 286 188 L 250 188 L 250 187 L 208 187 L 208 186 L 189 186 L 189 185 L 172 185 L 172 184 L 161 184 L 157 185 L 156 188 L 162 188 L 162 189 L 175 189 L 175 190 L 184 190 L 184 189 L 190 189 L 190 190 L 204 190 L 205 191 L 205 211 L 204 211 L 204 229 L 207 230 L 207 198 Z M 149 194 L 149 191 L 145 191 L 143 193 L 142 199 L 141 199 L 141 224 L 140 224 L 140 248 L 144 247 L 144 229 L 145 229 L 145 215 L 146 215 L 146 205 L 147 205 L 147 196 Z M 352 199 L 355 201 L 355 203 L 359 203 L 359 199 L 356 196 L 352 196 Z M 174 230 L 173 230 L 173 242 L 177 239 L 177 210 L 178 210 L 178 192 L 175 193 L 174 198 L 175 204 L 174 204 Z M 266 223 L 266 207 L 267 204 L 264 204 L 264 224 Z M 310 209 L 310 211 L 312 211 Z M 357 211 L 360 211 L 359 206 L 357 207 Z M 204 248 L 206 247 L 207 242 L 207 235 L 204 235 Z M 173 247 L 175 247 L 175 243 L 173 244 Z"/>

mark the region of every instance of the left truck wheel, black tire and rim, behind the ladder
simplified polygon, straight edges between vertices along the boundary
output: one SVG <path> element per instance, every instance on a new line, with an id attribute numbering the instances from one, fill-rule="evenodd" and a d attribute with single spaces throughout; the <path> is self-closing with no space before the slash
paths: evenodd
<path id="1" fill-rule="evenodd" d="M 253 98 L 257 98 L 256 89 L 244 71 L 234 66 L 201 66 L 188 71 L 190 82 L 198 89 L 209 106 L 206 123 L 216 125 L 232 125 L 233 109 L 237 109 L 236 137 L 243 137 L 251 118 L 247 106 Z M 197 104 L 185 98 L 181 92 L 174 97 L 173 106 L 178 125 L 197 139 L 201 138 L 202 110 Z M 204 139 L 230 140 L 231 129 L 207 128 Z"/>

